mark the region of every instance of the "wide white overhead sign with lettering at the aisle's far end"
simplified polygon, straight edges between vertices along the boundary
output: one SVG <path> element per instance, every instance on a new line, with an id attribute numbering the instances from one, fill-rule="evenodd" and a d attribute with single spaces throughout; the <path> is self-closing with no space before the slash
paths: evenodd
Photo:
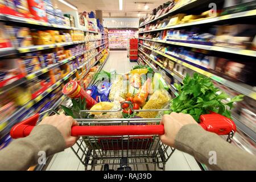
<path id="1" fill-rule="evenodd" d="M 138 28 L 139 18 L 103 18 L 103 25 L 108 28 Z"/>

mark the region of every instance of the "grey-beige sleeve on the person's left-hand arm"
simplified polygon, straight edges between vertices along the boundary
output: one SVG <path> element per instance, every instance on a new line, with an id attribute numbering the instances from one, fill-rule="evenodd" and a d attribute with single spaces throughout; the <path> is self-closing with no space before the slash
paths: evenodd
<path id="1" fill-rule="evenodd" d="M 38 164 L 39 151 L 50 156 L 64 148 L 65 140 L 56 127 L 38 125 L 28 137 L 13 140 L 0 151 L 0 170 L 26 170 Z"/>

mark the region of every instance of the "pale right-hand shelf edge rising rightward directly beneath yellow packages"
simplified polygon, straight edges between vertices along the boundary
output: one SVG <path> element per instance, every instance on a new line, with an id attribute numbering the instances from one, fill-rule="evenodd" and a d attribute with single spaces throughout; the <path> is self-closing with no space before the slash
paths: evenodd
<path id="1" fill-rule="evenodd" d="M 164 28 L 158 28 L 158 29 L 155 29 L 155 30 L 141 31 L 141 32 L 139 32 L 139 34 L 144 34 L 144 33 L 148 33 L 148 32 L 155 32 L 155 31 L 162 31 L 162 30 L 168 30 L 168 29 L 171 29 L 171 28 L 195 26 L 195 25 L 198 25 L 198 24 L 219 23 L 219 22 L 222 22 L 224 20 L 231 20 L 231 19 L 238 19 L 238 18 L 249 18 L 249 17 L 253 17 L 253 16 L 256 16 L 256 10 L 244 11 L 244 12 L 241 12 L 241 13 L 234 13 L 234 14 L 218 16 L 218 17 L 214 17 L 214 18 L 207 18 L 207 19 L 203 19 L 203 20 L 197 20 L 197 21 L 194 21 L 194 22 L 190 22 L 190 23 L 183 23 L 183 24 L 177 24 L 175 26 L 168 26 L 168 27 L 164 27 Z"/>

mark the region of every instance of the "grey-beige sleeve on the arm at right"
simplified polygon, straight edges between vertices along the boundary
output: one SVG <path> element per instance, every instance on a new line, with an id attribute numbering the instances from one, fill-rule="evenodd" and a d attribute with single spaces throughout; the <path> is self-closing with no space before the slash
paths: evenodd
<path id="1" fill-rule="evenodd" d="M 175 148 L 193 155 L 199 162 L 214 170 L 256 170 L 255 155 L 233 146 L 196 124 L 185 125 L 180 129 L 175 138 Z M 212 160 L 214 154 L 216 164 Z"/>

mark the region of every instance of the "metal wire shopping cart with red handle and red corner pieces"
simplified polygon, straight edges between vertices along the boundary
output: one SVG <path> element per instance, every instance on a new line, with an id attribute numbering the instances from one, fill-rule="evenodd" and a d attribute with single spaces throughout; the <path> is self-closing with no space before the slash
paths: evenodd
<path id="1" fill-rule="evenodd" d="M 131 102 L 126 101 L 121 104 L 121 108 L 125 103 L 131 105 Z M 132 108 L 131 110 L 133 110 Z M 81 110 L 80 112 L 109 113 L 121 110 Z M 159 112 L 166 110 L 169 109 L 133 111 Z M 57 113 L 57 111 L 50 109 L 44 113 L 33 115 L 15 125 L 11 129 L 11 137 L 21 138 L 29 135 L 40 115 L 49 111 Z M 166 146 L 159 139 L 159 135 L 164 134 L 164 127 L 160 125 L 160 118 L 79 118 L 76 121 L 80 123 L 80 126 L 73 126 L 71 134 L 80 137 L 80 139 L 77 140 L 72 150 L 84 164 L 85 170 L 95 170 L 96 166 L 101 166 L 101 170 L 109 170 L 109 166 L 113 168 L 117 165 L 120 165 L 117 168 L 120 171 L 144 169 L 141 165 L 145 165 L 146 169 L 149 170 L 149 164 L 154 164 L 155 170 L 156 167 L 164 170 L 166 162 L 175 151 L 175 148 Z M 222 132 L 222 134 L 229 134 L 230 142 L 235 130 L 236 128 L 232 127 L 230 131 Z"/>

